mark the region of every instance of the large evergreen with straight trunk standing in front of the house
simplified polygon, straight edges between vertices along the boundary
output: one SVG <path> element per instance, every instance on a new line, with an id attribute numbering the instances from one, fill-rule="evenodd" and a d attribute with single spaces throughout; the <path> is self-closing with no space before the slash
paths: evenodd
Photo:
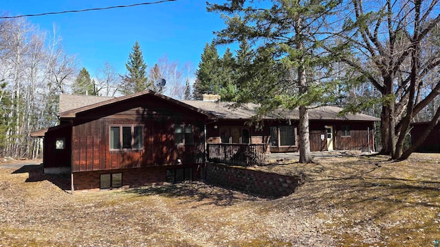
<path id="1" fill-rule="evenodd" d="M 245 39 L 257 47 L 259 58 L 248 69 L 252 74 L 241 76 L 236 98 L 246 102 L 261 97 L 261 114 L 278 107 L 300 108 L 300 163 L 307 163 L 311 161 L 307 107 L 329 99 L 328 84 L 320 78 L 330 80 L 323 75 L 336 56 L 322 44 L 329 37 L 326 20 L 340 1 L 270 3 L 230 0 L 223 5 L 208 3 L 208 11 L 221 12 L 227 25 L 216 33 L 217 44 Z"/>

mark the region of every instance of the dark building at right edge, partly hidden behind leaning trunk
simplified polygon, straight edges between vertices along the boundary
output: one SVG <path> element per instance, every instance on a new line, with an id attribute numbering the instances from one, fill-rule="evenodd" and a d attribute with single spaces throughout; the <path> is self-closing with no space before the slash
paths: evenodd
<path id="1" fill-rule="evenodd" d="M 411 141 L 415 143 L 421 138 L 423 132 L 428 128 L 429 122 L 419 122 L 411 124 Z M 421 143 L 417 152 L 440 152 L 440 123 L 434 126 L 425 141 Z"/>

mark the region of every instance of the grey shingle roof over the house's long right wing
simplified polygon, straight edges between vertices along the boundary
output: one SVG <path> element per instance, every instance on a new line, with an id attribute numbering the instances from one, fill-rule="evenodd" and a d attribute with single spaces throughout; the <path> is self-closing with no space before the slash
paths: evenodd
<path id="1" fill-rule="evenodd" d="M 208 113 L 217 116 L 219 119 L 250 119 L 256 115 L 254 110 L 256 104 L 245 104 L 235 108 L 229 102 L 206 102 L 200 100 L 182 100 L 185 104 L 206 110 Z M 320 106 L 309 109 L 309 119 L 311 120 L 352 120 L 352 121 L 380 121 L 377 117 L 372 117 L 362 113 L 347 114 L 339 116 L 342 108 L 337 106 Z M 263 119 L 299 119 L 299 110 L 278 110 L 272 115 Z"/>

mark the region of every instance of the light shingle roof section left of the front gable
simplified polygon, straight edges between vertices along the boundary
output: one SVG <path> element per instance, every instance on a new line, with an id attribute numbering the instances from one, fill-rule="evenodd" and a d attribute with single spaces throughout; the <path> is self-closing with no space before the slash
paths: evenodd
<path id="1" fill-rule="evenodd" d="M 58 109 L 58 113 L 64 113 L 68 110 L 74 110 L 83 106 L 90 106 L 92 104 L 104 102 L 114 98 L 115 97 L 92 95 L 67 95 L 63 93 L 60 95 L 60 108 Z"/>

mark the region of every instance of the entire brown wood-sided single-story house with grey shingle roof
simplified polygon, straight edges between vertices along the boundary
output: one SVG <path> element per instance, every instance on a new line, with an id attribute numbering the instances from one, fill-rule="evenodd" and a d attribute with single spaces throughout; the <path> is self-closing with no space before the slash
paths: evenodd
<path id="1" fill-rule="evenodd" d="M 255 105 L 179 101 L 153 91 L 123 97 L 62 94 L 59 107 L 60 124 L 33 136 L 44 137 L 44 172 L 71 174 L 72 191 L 194 180 L 210 145 L 298 151 L 296 110 L 265 117 L 256 126 L 250 121 Z M 309 110 L 311 150 L 372 150 L 379 119 L 340 117 L 340 110 Z"/>

